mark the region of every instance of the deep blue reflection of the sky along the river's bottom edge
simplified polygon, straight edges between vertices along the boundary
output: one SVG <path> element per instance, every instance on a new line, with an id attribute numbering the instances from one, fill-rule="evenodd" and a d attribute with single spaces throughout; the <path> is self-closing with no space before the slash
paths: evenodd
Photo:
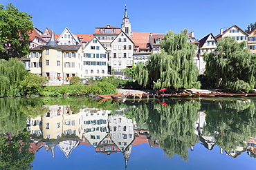
<path id="1" fill-rule="evenodd" d="M 223 153 L 225 153 L 223 151 Z M 237 161 L 239 160 L 239 161 Z M 150 148 L 148 144 L 133 145 L 127 169 L 255 169 L 254 158 L 250 158 L 246 151 L 237 158 L 220 154 L 217 145 L 210 151 L 203 145 L 194 145 L 194 151 L 189 149 L 189 160 L 181 160 L 179 156 L 165 157 L 163 149 Z M 96 153 L 91 145 L 82 145 L 73 149 L 66 158 L 64 153 L 55 147 L 55 158 L 51 151 L 44 148 L 35 153 L 33 169 L 125 169 L 125 159 L 121 152 Z"/>

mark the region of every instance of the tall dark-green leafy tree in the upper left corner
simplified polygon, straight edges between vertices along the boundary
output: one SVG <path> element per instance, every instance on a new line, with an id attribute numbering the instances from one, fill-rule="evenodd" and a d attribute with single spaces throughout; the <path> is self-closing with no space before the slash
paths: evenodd
<path id="1" fill-rule="evenodd" d="M 0 3 L 0 58 L 21 58 L 28 54 L 29 35 L 33 30 L 32 17 L 26 12 L 19 12 L 12 3 L 3 8 Z"/>

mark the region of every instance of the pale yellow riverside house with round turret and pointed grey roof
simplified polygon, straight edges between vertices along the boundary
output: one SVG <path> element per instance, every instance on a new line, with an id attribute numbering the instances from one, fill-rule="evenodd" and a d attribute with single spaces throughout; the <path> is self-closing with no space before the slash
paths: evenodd
<path id="1" fill-rule="evenodd" d="M 57 45 L 52 34 L 46 45 L 30 50 L 30 72 L 48 78 L 47 85 L 68 85 L 73 76 L 82 78 L 82 46 Z"/>

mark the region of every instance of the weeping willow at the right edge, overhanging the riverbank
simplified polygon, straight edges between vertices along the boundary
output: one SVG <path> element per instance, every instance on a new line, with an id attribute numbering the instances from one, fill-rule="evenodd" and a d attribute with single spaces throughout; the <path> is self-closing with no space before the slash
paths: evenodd
<path id="1" fill-rule="evenodd" d="M 217 88 L 248 92 L 255 87 L 256 55 L 250 54 L 246 42 L 237 43 L 225 37 L 217 43 L 214 52 L 205 54 L 206 75 Z"/>

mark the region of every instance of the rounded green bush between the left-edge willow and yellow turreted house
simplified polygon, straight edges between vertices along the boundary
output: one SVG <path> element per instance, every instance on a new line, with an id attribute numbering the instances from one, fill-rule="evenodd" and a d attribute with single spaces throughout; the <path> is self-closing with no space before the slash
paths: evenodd
<path id="1" fill-rule="evenodd" d="M 21 89 L 23 89 L 24 95 L 38 95 L 42 92 L 42 87 L 48 82 L 47 78 L 39 76 L 33 73 L 28 75 L 21 81 Z"/>

